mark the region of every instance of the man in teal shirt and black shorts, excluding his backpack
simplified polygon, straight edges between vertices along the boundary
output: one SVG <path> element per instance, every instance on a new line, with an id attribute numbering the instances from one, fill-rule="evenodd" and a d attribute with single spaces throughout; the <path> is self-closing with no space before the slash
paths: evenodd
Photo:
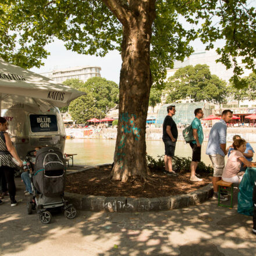
<path id="1" fill-rule="evenodd" d="M 201 182 L 202 179 L 195 175 L 195 170 L 197 169 L 198 162 L 201 161 L 201 145 L 204 141 L 204 133 L 202 132 L 202 125 L 200 119 L 204 116 L 201 108 L 197 108 L 194 111 L 195 118 L 191 123 L 193 129 L 194 140 L 191 141 L 190 147 L 192 148 L 192 161 L 190 164 L 190 180 L 191 182 Z"/>

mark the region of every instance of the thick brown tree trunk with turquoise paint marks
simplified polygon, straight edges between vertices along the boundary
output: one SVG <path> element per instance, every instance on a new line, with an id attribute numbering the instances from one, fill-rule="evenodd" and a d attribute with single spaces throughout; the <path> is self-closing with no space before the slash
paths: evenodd
<path id="1" fill-rule="evenodd" d="M 112 2 L 112 0 L 110 0 Z M 122 1 L 117 1 L 122 2 Z M 122 69 L 118 136 L 112 180 L 127 182 L 129 177 L 147 177 L 145 125 L 152 77 L 150 40 L 155 18 L 155 1 L 129 1 L 123 24 Z M 124 10 L 123 10 L 124 11 Z"/>

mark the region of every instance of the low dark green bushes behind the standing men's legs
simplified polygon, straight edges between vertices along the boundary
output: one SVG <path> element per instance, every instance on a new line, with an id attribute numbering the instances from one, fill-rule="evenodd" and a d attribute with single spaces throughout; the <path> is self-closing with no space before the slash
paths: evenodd
<path id="1" fill-rule="evenodd" d="M 165 162 L 163 160 L 164 155 L 158 155 L 158 159 L 152 158 L 150 155 L 147 155 L 147 162 L 148 162 L 148 167 L 150 169 L 154 170 L 164 170 L 165 169 Z M 176 172 L 190 172 L 190 163 L 191 163 L 191 158 L 188 157 L 173 157 L 173 169 Z M 199 162 L 197 166 L 197 173 L 212 173 L 214 172 L 214 169 L 211 166 L 205 165 L 204 162 Z"/>

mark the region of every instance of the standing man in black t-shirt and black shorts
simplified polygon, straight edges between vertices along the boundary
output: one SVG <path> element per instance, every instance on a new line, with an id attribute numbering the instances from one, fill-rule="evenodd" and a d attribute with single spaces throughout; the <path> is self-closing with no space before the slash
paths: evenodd
<path id="1" fill-rule="evenodd" d="M 172 157 L 175 153 L 178 130 L 172 116 L 175 115 L 175 106 L 167 107 L 168 115 L 163 121 L 163 143 L 165 143 L 165 171 L 170 176 L 177 176 L 177 173 L 172 170 Z"/>

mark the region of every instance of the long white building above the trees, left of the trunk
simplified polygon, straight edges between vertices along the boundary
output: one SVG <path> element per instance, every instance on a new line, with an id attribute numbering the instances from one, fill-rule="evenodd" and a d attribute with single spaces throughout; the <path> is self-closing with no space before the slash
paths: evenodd
<path id="1" fill-rule="evenodd" d="M 63 82 L 67 79 L 79 79 L 83 82 L 91 77 L 101 77 L 101 67 L 98 66 L 77 66 L 68 69 L 52 70 L 50 72 L 41 73 L 54 81 Z"/>

